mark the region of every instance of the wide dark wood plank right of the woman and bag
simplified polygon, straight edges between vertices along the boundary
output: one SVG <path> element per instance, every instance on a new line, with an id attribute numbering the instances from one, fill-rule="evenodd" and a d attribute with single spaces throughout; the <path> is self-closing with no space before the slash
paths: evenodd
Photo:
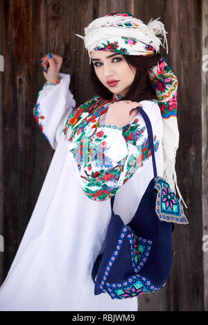
<path id="1" fill-rule="evenodd" d="M 190 222 L 173 233 L 171 310 L 202 310 L 201 1 L 166 1 L 165 24 L 171 41 L 167 62 L 179 81 L 177 181 Z"/>

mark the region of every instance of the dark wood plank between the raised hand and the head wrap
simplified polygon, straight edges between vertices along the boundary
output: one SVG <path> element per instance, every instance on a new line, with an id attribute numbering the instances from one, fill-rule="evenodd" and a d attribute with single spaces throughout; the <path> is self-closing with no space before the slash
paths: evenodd
<path id="1" fill-rule="evenodd" d="M 63 57 L 61 72 L 71 74 L 70 89 L 77 105 L 92 97 L 88 85 L 89 58 L 83 40 L 84 28 L 94 19 L 94 1 L 46 1 L 46 51 Z M 44 54 L 45 54 L 44 53 Z"/>

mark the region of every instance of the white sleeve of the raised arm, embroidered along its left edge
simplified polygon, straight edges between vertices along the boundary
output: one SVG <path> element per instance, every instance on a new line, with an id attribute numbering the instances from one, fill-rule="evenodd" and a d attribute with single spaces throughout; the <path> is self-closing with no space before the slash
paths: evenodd
<path id="1" fill-rule="evenodd" d="M 55 150 L 67 117 L 76 106 L 69 90 L 70 75 L 59 73 L 60 82 L 46 82 L 37 95 L 33 116 L 40 130 Z"/>

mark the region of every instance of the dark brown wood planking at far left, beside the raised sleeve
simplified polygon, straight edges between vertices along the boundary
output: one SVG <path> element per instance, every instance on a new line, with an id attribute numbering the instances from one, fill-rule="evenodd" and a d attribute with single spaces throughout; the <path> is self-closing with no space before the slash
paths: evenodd
<path id="1" fill-rule="evenodd" d="M 5 252 L 4 273 L 19 247 L 35 204 L 33 94 L 38 81 L 33 58 L 40 43 L 39 17 L 42 1 L 1 1 L 3 26 L 2 124 L 3 124 L 3 218 Z M 34 28 L 34 24 L 37 24 Z M 40 56 L 40 52 L 39 55 Z M 32 126 L 33 125 L 33 126 Z M 39 135 L 40 137 L 40 135 Z M 36 154 L 37 155 L 37 154 Z M 45 155 L 45 154 L 44 154 Z M 44 159 L 45 156 L 42 156 Z M 44 164 L 42 164 L 44 165 Z M 46 173 L 46 170 L 44 170 Z"/>

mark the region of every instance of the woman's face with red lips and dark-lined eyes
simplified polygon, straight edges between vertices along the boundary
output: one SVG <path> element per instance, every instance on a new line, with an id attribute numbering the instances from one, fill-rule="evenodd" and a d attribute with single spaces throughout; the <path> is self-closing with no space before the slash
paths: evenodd
<path id="1" fill-rule="evenodd" d="M 125 96 L 135 79 L 136 68 L 125 61 L 122 54 L 91 51 L 94 71 L 102 84 L 116 94 Z"/>

